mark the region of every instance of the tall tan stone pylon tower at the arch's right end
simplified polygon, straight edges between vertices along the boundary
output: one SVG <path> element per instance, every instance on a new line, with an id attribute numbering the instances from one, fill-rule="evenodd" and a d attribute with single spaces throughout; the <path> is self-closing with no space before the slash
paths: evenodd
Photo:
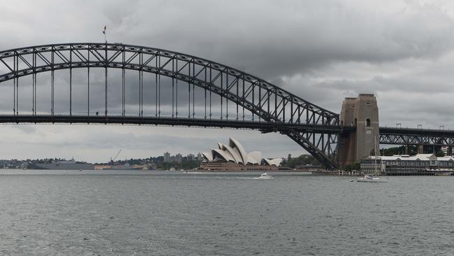
<path id="1" fill-rule="evenodd" d="M 379 108 L 374 94 L 345 98 L 339 118 L 340 125 L 346 128 L 337 140 L 337 162 L 340 166 L 368 157 L 374 152 L 375 145 L 380 148 Z"/>

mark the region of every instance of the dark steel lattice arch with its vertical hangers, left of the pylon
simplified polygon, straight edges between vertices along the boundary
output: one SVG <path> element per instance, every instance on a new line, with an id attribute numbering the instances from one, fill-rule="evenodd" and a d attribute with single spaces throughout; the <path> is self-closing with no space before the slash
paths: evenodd
<path id="1" fill-rule="evenodd" d="M 173 52 L 157 48 L 147 48 L 136 45 L 123 45 L 121 43 L 67 43 L 53 45 L 38 45 L 27 48 L 17 48 L 0 52 L 0 83 L 7 80 L 14 81 L 14 106 L 13 116 L 17 122 L 22 122 L 19 113 L 19 90 L 22 76 L 33 76 L 33 103 L 31 115 L 36 116 L 38 108 L 36 99 L 36 74 L 42 72 L 51 73 L 51 109 L 50 116 L 56 116 L 54 112 L 54 71 L 68 69 L 70 71 L 70 98 L 69 116 L 72 117 L 72 70 L 86 68 L 89 76 L 90 68 L 105 69 L 105 113 L 108 114 L 108 69 L 122 69 L 122 117 L 128 122 L 125 115 L 125 70 L 134 70 L 139 73 L 140 90 L 138 103 L 138 117 L 146 118 L 143 114 L 143 73 L 154 73 L 156 75 L 156 110 L 153 120 L 159 118 L 173 118 L 176 123 L 182 124 L 187 120 L 210 121 L 212 117 L 212 93 L 221 97 L 220 117 L 217 121 L 235 120 L 236 122 L 258 122 L 263 123 L 259 130 L 263 132 L 278 131 L 286 134 L 296 141 L 302 148 L 314 155 L 325 167 L 334 169 L 337 164 L 332 161 L 335 153 L 337 134 L 339 131 L 332 129 L 308 129 L 307 127 L 335 127 L 339 125 L 339 115 L 325 110 L 315 104 L 291 94 L 286 90 L 272 85 L 267 81 L 251 76 L 229 66 L 211 62 L 207 59 L 185 55 L 180 52 Z M 172 113 L 169 116 L 161 115 L 161 76 L 172 79 Z M 176 83 L 174 87 L 174 81 Z M 187 115 L 183 116 L 181 106 L 178 106 L 178 81 L 187 83 L 189 92 L 189 103 Z M 89 83 L 89 77 L 88 77 Z M 203 120 L 196 118 L 196 97 L 194 87 L 199 87 L 205 92 Z M 192 90 L 191 90 L 192 89 Z M 159 92 L 159 97 L 158 97 Z M 191 102 L 191 92 L 193 94 Z M 209 94 L 209 97 L 208 97 Z M 175 99 L 174 99 L 175 95 Z M 96 95 L 100 97 L 101 95 Z M 89 92 L 87 97 L 89 98 Z M 208 98 L 210 101 L 208 102 Z M 89 101 L 88 101 L 89 102 Z M 191 106 L 192 103 L 192 106 Z M 228 107 L 235 106 L 235 111 L 228 110 Z M 180 104 L 181 105 L 181 104 Z M 218 104 L 219 105 L 219 104 Z M 90 115 L 89 103 L 87 116 Z M 250 120 L 245 120 L 245 111 L 251 113 Z M 230 113 L 230 116 L 229 116 Z M 74 116 L 74 118 L 76 118 Z M 151 119 L 150 119 L 151 120 Z M 71 122 L 71 120 L 67 120 Z M 13 121 L 15 122 L 15 121 Z M 266 125 L 268 124 L 268 125 Z M 272 125 L 269 125 L 272 124 Z M 287 129 L 293 125 L 293 129 Z"/>

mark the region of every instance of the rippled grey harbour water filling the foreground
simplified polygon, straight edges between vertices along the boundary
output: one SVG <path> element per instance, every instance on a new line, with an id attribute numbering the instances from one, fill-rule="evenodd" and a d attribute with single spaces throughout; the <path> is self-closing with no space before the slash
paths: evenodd
<path id="1" fill-rule="evenodd" d="M 0 171 L 0 255 L 453 255 L 454 177 Z"/>

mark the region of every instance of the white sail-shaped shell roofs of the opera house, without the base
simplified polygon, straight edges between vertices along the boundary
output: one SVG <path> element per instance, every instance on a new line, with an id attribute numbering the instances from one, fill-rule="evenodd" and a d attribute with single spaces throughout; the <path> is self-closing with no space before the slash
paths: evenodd
<path id="1" fill-rule="evenodd" d="M 241 143 L 235 138 L 228 139 L 228 145 L 218 142 L 218 148 L 212 149 L 209 152 L 204 152 L 203 157 L 208 162 L 234 162 L 235 164 L 261 164 L 262 152 L 253 151 L 247 153 Z M 282 159 L 264 159 L 265 164 L 279 166 Z"/>

